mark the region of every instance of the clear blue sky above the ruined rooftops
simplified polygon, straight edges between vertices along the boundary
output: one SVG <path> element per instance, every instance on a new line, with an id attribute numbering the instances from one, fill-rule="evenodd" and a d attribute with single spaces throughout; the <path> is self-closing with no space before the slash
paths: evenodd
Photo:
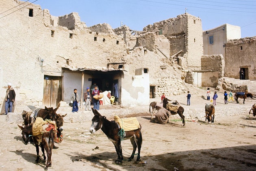
<path id="1" fill-rule="evenodd" d="M 34 2 L 29 0 L 28 2 Z M 132 30 L 187 13 L 202 19 L 203 30 L 222 24 L 241 27 L 241 37 L 256 36 L 256 0 L 37 0 L 53 16 L 77 12 L 86 25 L 121 22 Z"/>

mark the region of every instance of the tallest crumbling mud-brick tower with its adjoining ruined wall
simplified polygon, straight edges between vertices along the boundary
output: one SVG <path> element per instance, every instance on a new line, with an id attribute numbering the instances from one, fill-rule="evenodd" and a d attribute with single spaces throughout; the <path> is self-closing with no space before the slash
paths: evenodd
<path id="1" fill-rule="evenodd" d="M 170 56 L 182 50 L 180 56 L 186 59 L 183 67 L 200 69 L 203 55 L 201 19 L 188 13 L 178 15 L 143 28 L 145 32 L 163 34 L 170 42 Z"/>

